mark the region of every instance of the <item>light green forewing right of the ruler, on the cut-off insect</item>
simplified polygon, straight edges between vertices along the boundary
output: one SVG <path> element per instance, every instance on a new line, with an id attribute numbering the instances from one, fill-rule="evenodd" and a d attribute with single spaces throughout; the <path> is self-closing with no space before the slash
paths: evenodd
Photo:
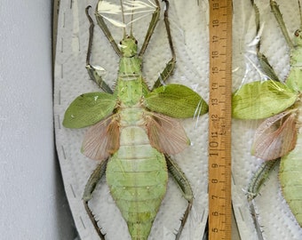
<path id="1" fill-rule="evenodd" d="M 273 80 L 244 84 L 233 94 L 232 114 L 241 119 L 266 118 L 289 108 L 297 98 L 287 85 Z"/>

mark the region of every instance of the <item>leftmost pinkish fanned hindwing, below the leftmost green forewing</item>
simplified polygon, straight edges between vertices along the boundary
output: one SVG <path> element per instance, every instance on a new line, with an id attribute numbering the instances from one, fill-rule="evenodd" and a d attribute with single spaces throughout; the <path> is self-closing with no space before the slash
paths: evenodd
<path id="1" fill-rule="evenodd" d="M 114 115 L 88 129 L 83 139 L 82 152 L 91 159 L 106 160 L 119 146 L 119 122 Z"/>

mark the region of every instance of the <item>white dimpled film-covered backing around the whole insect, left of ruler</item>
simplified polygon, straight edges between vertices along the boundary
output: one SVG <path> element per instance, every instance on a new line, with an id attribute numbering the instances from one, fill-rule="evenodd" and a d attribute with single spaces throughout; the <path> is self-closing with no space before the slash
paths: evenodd
<path id="1" fill-rule="evenodd" d="M 121 17 L 120 1 L 103 1 L 100 14 L 109 22 L 116 43 L 123 38 L 123 27 L 127 32 L 133 26 L 133 36 L 139 42 L 139 49 L 147 32 L 151 13 L 155 10 L 154 1 L 135 1 L 136 9 L 131 24 L 131 1 L 125 3 L 125 20 Z M 106 4 L 107 3 L 107 4 Z M 56 141 L 60 167 L 73 213 L 76 228 L 81 239 L 99 239 L 88 218 L 82 201 L 83 189 L 97 162 L 83 156 L 80 152 L 83 134 L 86 129 L 66 129 L 62 126 L 64 112 L 72 100 L 84 92 L 99 91 L 85 69 L 89 36 L 89 21 L 85 7 L 91 5 L 91 17 L 98 1 L 61 1 L 58 27 L 57 52 L 55 61 L 54 111 Z M 163 22 L 164 3 L 160 1 L 162 12 L 155 33 L 143 56 L 143 76 L 149 86 L 155 83 L 165 64 L 171 59 L 166 29 Z M 130 9 L 129 9 L 130 8 Z M 177 56 L 177 67 L 169 83 L 185 84 L 208 100 L 208 16 L 207 3 L 191 1 L 171 1 L 169 17 L 171 32 Z M 189 14 L 183 14 L 189 12 Z M 192 18 L 192 16 L 195 16 Z M 99 26 L 95 26 L 92 43 L 91 64 L 103 68 L 103 78 L 115 87 L 118 70 L 118 57 Z M 100 68 L 100 69 L 101 69 Z M 172 156 L 182 171 L 186 173 L 194 191 L 194 204 L 183 230 L 181 239 L 200 239 L 208 215 L 207 204 L 207 126 L 208 116 L 182 121 L 192 146 L 177 156 Z M 121 213 L 115 206 L 105 178 L 93 193 L 90 207 L 99 220 L 99 226 L 106 238 L 130 239 L 128 228 Z M 167 194 L 155 218 L 149 239 L 174 239 L 180 219 L 187 208 L 187 201 L 170 178 Z"/>

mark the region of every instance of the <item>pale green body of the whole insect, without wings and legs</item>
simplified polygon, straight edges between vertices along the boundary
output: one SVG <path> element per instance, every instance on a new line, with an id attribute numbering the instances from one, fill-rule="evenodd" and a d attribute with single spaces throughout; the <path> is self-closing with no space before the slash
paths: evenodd
<path id="1" fill-rule="evenodd" d="M 132 239 L 147 239 L 166 191 L 168 172 L 163 153 L 151 147 L 141 127 L 144 108 L 139 101 L 144 83 L 138 66 L 141 60 L 137 57 L 123 57 L 120 61 L 116 89 L 120 100 L 120 111 L 116 113 L 120 118 L 120 146 L 110 157 L 106 178 Z"/>

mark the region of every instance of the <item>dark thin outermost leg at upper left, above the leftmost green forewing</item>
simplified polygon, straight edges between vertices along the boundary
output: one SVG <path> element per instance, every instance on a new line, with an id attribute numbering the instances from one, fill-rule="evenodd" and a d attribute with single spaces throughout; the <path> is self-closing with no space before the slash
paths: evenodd
<path id="1" fill-rule="evenodd" d="M 91 19 L 91 16 L 89 15 L 89 9 L 91 6 L 87 6 L 85 9 L 87 18 L 90 22 L 90 27 L 89 27 L 89 42 L 88 42 L 88 50 L 87 50 L 87 55 L 86 55 L 86 69 L 88 71 L 89 76 L 91 79 L 99 85 L 99 87 L 107 93 L 113 93 L 111 88 L 105 83 L 105 81 L 102 79 L 101 76 L 99 76 L 99 73 L 96 68 L 94 68 L 91 65 L 91 47 L 92 47 L 92 39 L 93 39 L 93 28 L 94 28 L 94 23 L 93 20 Z"/>

